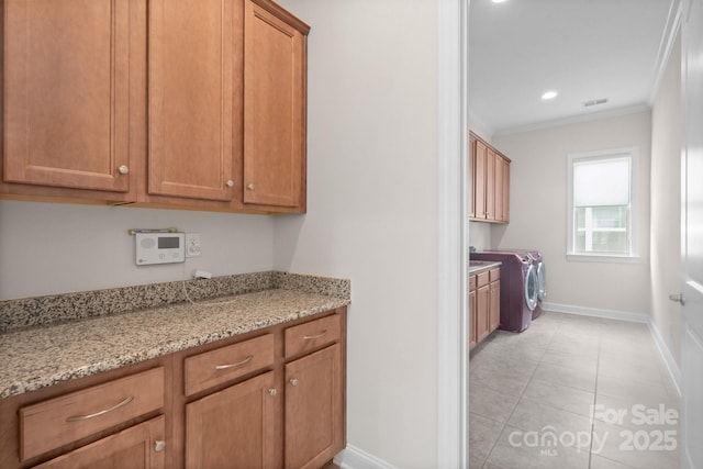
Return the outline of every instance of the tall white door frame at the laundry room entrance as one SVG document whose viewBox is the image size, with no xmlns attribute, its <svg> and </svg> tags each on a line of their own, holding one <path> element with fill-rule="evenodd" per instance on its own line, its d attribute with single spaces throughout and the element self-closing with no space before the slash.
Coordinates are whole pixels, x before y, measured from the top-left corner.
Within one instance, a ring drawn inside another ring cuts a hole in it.
<svg viewBox="0 0 703 469">
<path fill-rule="evenodd" d="M 437 468 L 469 466 L 469 1 L 437 3 Z"/>
</svg>

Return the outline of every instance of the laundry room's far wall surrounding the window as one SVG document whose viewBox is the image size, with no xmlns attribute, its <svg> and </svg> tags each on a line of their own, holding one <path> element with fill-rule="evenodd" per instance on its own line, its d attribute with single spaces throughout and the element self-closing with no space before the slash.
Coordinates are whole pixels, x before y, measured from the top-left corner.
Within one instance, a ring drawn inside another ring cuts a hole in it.
<svg viewBox="0 0 703 469">
<path fill-rule="evenodd" d="M 493 246 L 537 248 L 546 259 L 548 302 L 649 314 L 649 163 L 651 114 L 639 112 L 493 137 L 512 159 L 510 224 Z M 639 254 L 636 264 L 567 261 L 567 155 L 639 147 Z"/>
</svg>

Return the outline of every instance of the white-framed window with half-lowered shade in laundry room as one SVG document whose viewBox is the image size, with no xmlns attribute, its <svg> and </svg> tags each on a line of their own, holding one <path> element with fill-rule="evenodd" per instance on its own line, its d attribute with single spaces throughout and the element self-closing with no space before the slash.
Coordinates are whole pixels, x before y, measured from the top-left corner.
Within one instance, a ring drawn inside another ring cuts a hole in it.
<svg viewBox="0 0 703 469">
<path fill-rule="evenodd" d="M 568 255 L 637 257 L 637 148 L 569 155 Z"/>
</svg>

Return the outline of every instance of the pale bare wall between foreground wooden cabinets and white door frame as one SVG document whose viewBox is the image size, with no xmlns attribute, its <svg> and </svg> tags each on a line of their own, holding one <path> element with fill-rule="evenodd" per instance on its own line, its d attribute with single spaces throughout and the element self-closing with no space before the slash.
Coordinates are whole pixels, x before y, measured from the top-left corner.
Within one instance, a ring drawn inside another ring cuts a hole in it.
<svg viewBox="0 0 703 469">
<path fill-rule="evenodd" d="M 309 203 L 275 266 L 352 279 L 348 444 L 437 460 L 437 3 L 288 0 L 309 37 Z"/>
</svg>

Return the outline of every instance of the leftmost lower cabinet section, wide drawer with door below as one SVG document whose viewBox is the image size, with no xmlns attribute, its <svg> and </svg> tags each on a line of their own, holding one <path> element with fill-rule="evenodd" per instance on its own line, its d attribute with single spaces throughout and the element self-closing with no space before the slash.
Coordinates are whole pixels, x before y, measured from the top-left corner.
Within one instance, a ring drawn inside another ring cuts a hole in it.
<svg viewBox="0 0 703 469">
<path fill-rule="evenodd" d="M 0 467 L 168 467 L 169 373 L 156 359 L 0 400 Z"/>
</svg>

